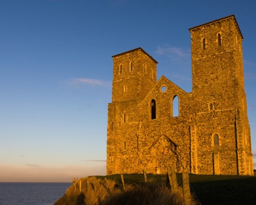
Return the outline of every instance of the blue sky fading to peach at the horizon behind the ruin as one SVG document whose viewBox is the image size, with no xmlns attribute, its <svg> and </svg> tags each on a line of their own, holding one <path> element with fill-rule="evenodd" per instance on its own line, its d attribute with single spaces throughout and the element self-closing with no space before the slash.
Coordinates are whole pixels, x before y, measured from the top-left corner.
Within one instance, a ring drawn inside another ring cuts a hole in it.
<svg viewBox="0 0 256 205">
<path fill-rule="evenodd" d="M 253 0 L 0 0 L 0 182 L 105 175 L 111 56 L 142 47 L 158 78 L 190 92 L 188 29 L 231 14 L 256 153 L 255 10 Z"/>
</svg>

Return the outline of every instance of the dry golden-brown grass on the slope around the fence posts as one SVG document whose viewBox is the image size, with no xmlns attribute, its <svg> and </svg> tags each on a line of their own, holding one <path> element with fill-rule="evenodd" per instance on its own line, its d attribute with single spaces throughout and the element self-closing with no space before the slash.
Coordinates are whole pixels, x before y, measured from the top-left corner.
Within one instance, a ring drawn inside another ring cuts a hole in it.
<svg viewBox="0 0 256 205">
<path fill-rule="evenodd" d="M 79 192 L 81 180 L 81 192 Z M 183 204 L 182 189 L 177 193 L 165 183 L 133 183 L 123 189 L 121 183 L 114 180 L 87 177 L 79 179 L 77 184 L 68 188 L 66 194 L 56 201 L 55 205 L 82 205 L 82 204 Z M 192 204 L 197 204 L 191 198 Z"/>
</svg>

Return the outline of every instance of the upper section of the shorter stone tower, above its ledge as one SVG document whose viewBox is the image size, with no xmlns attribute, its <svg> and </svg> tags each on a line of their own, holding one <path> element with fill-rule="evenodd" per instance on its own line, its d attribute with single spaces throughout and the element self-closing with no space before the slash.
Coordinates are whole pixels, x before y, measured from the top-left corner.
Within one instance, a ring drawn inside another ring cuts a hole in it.
<svg viewBox="0 0 256 205">
<path fill-rule="evenodd" d="M 112 102 L 142 100 L 157 82 L 157 62 L 140 47 L 112 58 Z"/>
</svg>

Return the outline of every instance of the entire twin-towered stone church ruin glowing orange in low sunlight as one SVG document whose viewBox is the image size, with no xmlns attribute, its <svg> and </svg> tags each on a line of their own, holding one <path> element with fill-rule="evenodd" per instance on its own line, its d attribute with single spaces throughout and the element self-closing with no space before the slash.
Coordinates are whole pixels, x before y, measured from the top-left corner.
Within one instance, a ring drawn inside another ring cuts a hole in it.
<svg viewBox="0 0 256 205">
<path fill-rule="evenodd" d="M 112 56 L 107 174 L 253 175 L 242 33 L 234 15 L 189 29 L 192 92 L 162 76 L 140 47 Z M 173 101 L 179 103 L 173 116 Z"/>
</svg>

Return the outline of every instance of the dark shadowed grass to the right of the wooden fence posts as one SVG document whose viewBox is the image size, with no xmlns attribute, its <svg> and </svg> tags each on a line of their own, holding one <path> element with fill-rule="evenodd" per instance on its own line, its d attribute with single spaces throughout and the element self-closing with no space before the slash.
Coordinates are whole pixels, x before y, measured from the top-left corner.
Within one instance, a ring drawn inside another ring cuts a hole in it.
<svg viewBox="0 0 256 205">
<path fill-rule="evenodd" d="M 191 189 L 201 204 L 255 204 L 256 177 L 191 175 Z"/>
</svg>

